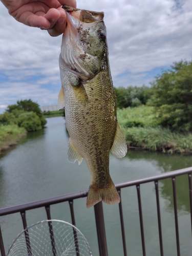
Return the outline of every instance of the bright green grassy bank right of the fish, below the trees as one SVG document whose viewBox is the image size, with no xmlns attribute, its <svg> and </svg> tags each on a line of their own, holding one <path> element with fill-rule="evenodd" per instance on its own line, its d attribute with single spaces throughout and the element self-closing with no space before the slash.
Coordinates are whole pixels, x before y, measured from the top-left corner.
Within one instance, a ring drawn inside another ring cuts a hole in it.
<svg viewBox="0 0 192 256">
<path fill-rule="evenodd" d="M 172 132 L 156 120 L 151 106 L 126 108 L 117 111 L 119 125 L 129 147 L 164 153 L 192 153 L 192 134 Z"/>
</svg>

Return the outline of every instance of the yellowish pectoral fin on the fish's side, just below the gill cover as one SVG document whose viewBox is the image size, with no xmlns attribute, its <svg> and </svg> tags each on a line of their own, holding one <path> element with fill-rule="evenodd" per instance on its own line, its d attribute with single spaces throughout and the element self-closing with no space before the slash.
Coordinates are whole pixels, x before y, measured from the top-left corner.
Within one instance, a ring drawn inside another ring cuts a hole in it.
<svg viewBox="0 0 192 256">
<path fill-rule="evenodd" d="M 88 95 L 86 89 L 84 89 L 82 82 L 78 80 L 75 84 L 72 84 L 72 88 L 77 102 L 84 106 L 87 105 L 87 103 L 89 102 Z"/>
</svg>

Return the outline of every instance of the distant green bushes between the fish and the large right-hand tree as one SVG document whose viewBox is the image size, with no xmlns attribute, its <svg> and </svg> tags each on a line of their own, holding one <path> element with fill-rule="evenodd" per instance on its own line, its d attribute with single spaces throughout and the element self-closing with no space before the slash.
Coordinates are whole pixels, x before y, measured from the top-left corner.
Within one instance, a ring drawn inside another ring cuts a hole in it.
<svg viewBox="0 0 192 256">
<path fill-rule="evenodd" d="M 115 88 L 115 94 L 117 99 L 117 108 L 127 108 L 128 106 L 139 106 L 142 104 L 146 104 L 150 95 L 148 92 L 148 87 L 119 87 Z"/>
</svg>

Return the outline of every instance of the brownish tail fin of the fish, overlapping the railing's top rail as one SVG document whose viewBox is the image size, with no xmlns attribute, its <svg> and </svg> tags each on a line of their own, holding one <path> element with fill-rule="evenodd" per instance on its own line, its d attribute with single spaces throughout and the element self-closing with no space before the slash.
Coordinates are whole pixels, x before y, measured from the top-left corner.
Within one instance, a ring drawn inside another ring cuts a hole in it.
<svg viewBox="0 0 192 256">
<path fill-rule="evenodd" d="M 120 202 L 120 197 L 117 189 L 110 177 L 108 185 L 104 188 L 99 188 L 96 184 L 92 183 L 89 187 L 86 206 L 91 206 L 103 201 L 106 204 L 117 204 Z"/>
</svg>

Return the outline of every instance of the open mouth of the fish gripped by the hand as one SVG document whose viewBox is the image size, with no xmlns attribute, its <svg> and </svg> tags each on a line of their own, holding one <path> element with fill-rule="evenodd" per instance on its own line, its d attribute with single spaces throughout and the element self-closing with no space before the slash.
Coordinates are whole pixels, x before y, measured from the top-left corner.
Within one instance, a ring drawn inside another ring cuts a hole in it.
<svg viewBox="0 0 192 256">
<path fill-rule="evenodd" d="M 82 23 L 93 23 L 100 22 L 103 20 L 104 12 L 94 12 L 88 10 L 81 10 L 77 8 L 72 8 L 67 5 L 63 5 L 62 8 L 72 17 L 78 18 Z"/>
</svg>

